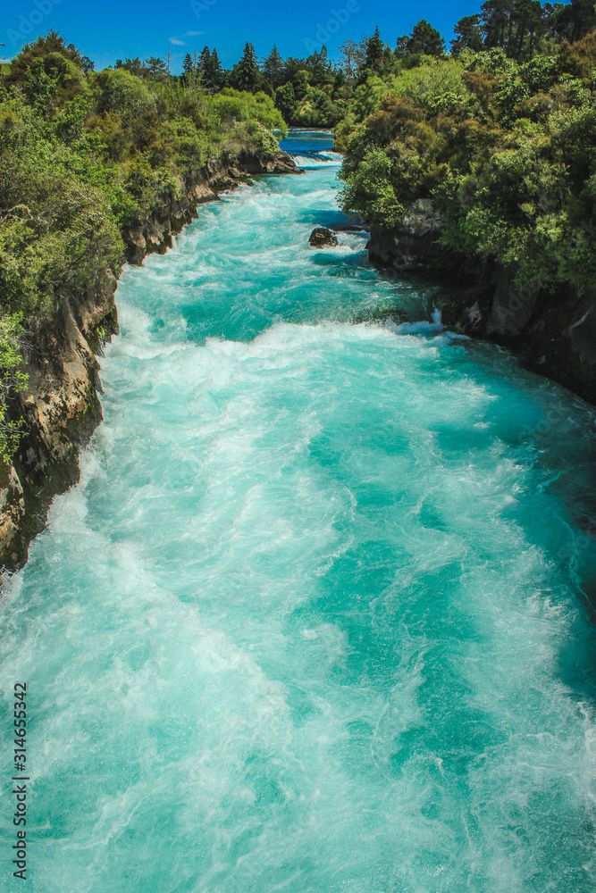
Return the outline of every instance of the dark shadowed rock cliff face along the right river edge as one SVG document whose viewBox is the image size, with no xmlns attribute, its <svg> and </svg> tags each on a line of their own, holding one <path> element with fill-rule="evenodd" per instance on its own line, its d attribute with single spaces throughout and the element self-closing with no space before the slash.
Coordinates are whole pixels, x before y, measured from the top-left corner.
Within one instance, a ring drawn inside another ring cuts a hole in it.
<svg viewBox="0 0 596 893">
<path fill-rule="evenodd" d="M 520 286 L 515 268 L 458 255 L 440 237 L 439 214 L 418 203 L 398 227 L 372 230 L 368 253 L 378 267 L 436 281 L 449 328 L 510 347 L 527 368 L 596 404 L 596 288 Z"/>
</svg>

